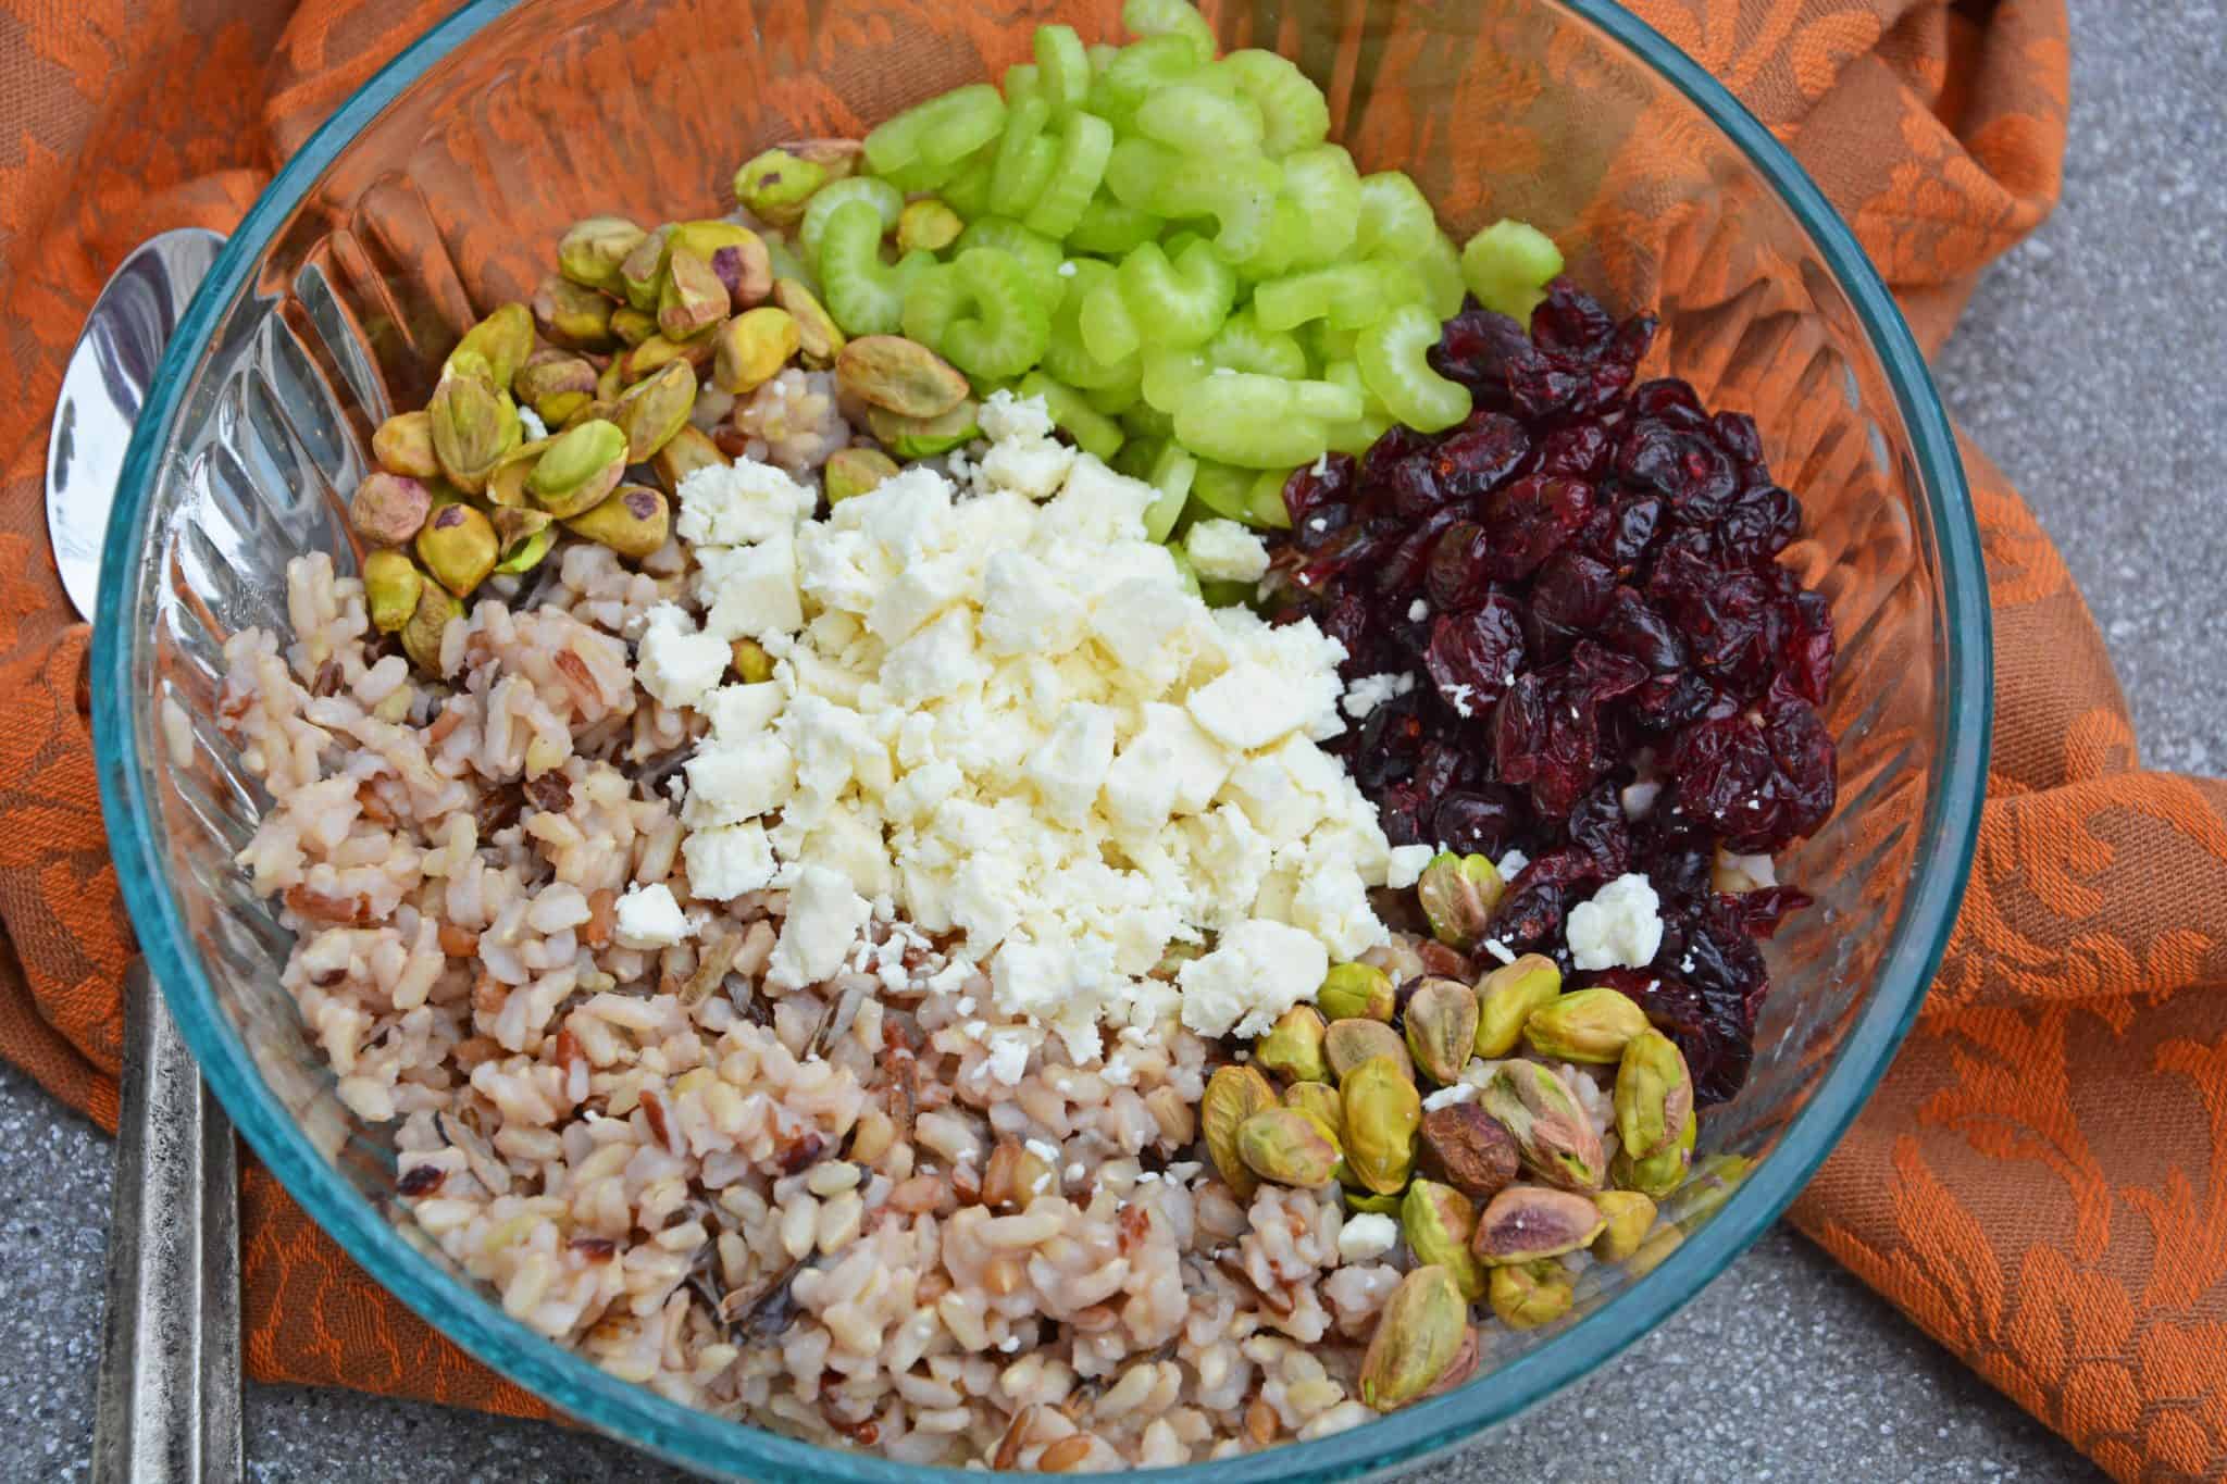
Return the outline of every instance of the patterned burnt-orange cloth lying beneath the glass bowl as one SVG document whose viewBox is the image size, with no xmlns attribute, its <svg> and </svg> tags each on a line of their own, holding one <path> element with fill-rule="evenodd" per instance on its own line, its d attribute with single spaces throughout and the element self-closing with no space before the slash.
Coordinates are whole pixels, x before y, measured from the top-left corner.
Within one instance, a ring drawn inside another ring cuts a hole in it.
<svg viewBox="0 0 2227 1484">
<path fill-rule="evenodd" d="M 448 4 L 0 0 L 0 1052 L 116 1121 L 129 952 L 45 550 L 62 358 L 160 227 L 229 227 Z M 1817 176 L 1937 347 L 2051 207 L 2060 0 L 1639 0 Z M 2087 605 L 1966 447 L 1998 645 L 1971 894 L 1795 1221 L 2122 1480 L 2227 1473 L 2227 785 L 2140 772 Z M 245 1175 L 247 1362 L 546 1415 Z"/>
</svg>

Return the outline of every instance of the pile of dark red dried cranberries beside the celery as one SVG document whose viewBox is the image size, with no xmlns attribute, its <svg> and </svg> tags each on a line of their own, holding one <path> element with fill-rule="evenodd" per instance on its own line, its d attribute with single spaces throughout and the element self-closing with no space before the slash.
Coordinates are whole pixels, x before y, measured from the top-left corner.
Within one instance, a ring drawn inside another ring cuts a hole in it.
<svg viewBox="0 0 2227 1484">
<path fill-rule="evenodd" d="M 1632 385 L 1652 338 L 1568 280 L 1530 334 L 1472 303 L 1430 354 L 1472 416 L 1294 474 L 1276 570 L 1347 681 L 1416 676 L 1332 743 L 1392 843 L 1530 852 L 1494 917 L 1505 948 L 1568 970 L 1568 908 L 1646 872 L 1661 952 L 1586 981 L 1637 999 L 1708 1104 L 1748 1075 L 1770 988 L 1755 939 L 1808 906 L 1719 892 L 1713 865 L 1833 812 L 1833 616 L 1777 563 L 1802 505 L 1755 421 L 1681 380 Z"/>
</svg>

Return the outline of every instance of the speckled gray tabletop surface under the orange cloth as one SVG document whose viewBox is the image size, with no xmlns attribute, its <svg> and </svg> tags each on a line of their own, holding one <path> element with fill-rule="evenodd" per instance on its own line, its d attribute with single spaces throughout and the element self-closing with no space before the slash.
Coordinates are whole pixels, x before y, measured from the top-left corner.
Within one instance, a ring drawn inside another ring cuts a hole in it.
<svg viewBox="0 0 2227 1484">
<path fill-rule="evenodd" d="M 2227 303 L 2218 4 L 2076 0 L 2064 207 L 1986 280 L 1942 389 L 2033 501 L 2111 641 L 2154 765 L 2227 756 L 2216 416 Z M 85 1475 L 109 1146 L 0 1068 L 0 1480 Z M 258 1386 L 267 1484 L 666 1480 L 557 1428 Z M 1423 1471 L 1488 1480 L 2100 1477 L 1791 1230 L 1619 1364 Z"/>
</svg>

